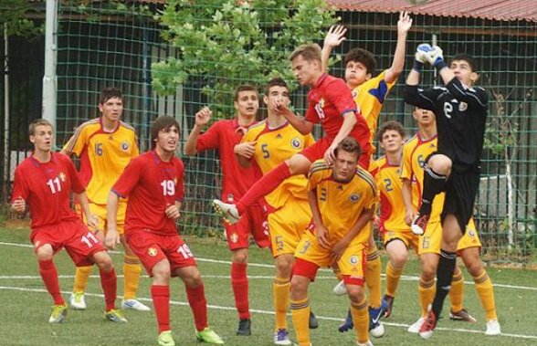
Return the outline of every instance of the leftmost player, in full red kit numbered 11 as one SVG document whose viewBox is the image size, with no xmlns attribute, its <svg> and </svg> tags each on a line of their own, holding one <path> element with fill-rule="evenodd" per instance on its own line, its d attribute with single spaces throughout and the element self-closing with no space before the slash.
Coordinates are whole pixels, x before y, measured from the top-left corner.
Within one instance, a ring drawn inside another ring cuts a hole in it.
<svg viewBox="0 0 537 346">
<path fill-rule="evenodd" d="M 29 135 L 34 152 L 16 167 L 11 208 L 16 213 L 24 213 L 27 205 L 30 210 L 30 240 L 36 251 L 41 278 L 54 299 L 48 322 L 62 322 L 67 314 L 53 261 L 62 247 L 77 267 L 97 264 L 106 302 L 104 317 L 114 322 L 126 322 L 121 312 L 115 309 L 116 272 L 111 257 L 70 208 L 69 194 L 72 191 L 88 224 L 97 225 L 97 218 L 89 212 L 88 197 L 75 166 L 68 156 L 51 151 L 54 135 L 50 122 L 32 121 Z"/>
</svg>

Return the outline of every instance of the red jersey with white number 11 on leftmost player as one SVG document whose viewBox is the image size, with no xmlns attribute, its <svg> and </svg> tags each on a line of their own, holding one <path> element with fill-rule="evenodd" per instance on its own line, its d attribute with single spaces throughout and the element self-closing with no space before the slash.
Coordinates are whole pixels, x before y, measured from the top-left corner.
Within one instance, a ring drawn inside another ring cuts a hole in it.
<svg viewBox="0 0 537 346">
<path fill-rule="evenodd" d="M 22 197 L 30 208 L 32 230 L 56 225 L 79 216 L 70 207 L 71 191 L 81 194 L 84 185 L 68 156 L 51 152 L 50 161 L 39 163 L 28 157 L 15 170 L 12 201 Z"/>
</svg>

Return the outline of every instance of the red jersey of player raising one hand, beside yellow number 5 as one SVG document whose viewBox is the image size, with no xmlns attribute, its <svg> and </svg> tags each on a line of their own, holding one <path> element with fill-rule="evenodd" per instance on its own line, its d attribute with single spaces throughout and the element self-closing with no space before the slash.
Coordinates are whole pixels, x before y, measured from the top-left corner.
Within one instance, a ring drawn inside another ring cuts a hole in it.
<svg viewBox="0 0 537 346">
<path fill-rule="evenodd" d="M 233 151 L 246 131 L 238 125 L 237 119 L 216 121 L 199 136 L 195 145 L 197 152 L 218 149 L 223 175 L 221 199 L 224 202 L 238 201 L 261 177 L 261 172 L 255 165 L 242 168 Z"/>
</svg>

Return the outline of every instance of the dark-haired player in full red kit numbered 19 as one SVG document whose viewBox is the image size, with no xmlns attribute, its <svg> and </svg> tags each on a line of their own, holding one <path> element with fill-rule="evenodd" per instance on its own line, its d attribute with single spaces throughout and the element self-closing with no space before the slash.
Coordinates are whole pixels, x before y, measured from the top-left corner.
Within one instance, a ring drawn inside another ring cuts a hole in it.
<svg viewBox="0 0 537 346">
<path fill-rule="evenodd" d="M 129 197 L 125 238 L 153 278 L 151 295 L 159 328 L 158 344 L 175 345 L 170 327 L 170 277 L 179 277 L 184 282 L 197 339 L 223 344 L 207 324 L 205 288 L 194 255 L 177 234 L 176 221 L 184 198 L 184 163 L 174 156 L 179 144 L 179 124 L 172 117 L 157 118 L 151 128 L 151 139 L 153 150 L 132 160 L 111 189 L 105 244 L 114 248 L 120 243 L 118 204 L 120 197 Z"/>
</svg>

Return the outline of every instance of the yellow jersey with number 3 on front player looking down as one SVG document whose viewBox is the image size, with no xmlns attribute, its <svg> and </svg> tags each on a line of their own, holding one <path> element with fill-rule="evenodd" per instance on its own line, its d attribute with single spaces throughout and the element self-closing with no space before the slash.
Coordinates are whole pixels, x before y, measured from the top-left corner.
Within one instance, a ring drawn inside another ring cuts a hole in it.
<svg viewBox="0 0 537 346">
<path fill-rule="evenodd" d="M 377 187 L 373 176 L 358 166 L 353 180 L 339 183 L 332 178 L 332 167 L 323 160 L 311 165 L 308 191 L 316 189 L 317 204 L 322 224 L 328 229 L 333 245 L 356 224 L 364 209 L 374 208 L 378 203 Z M 370 227 L 363 227 L 356 242 L 367 243 Z"/>
</svg>

